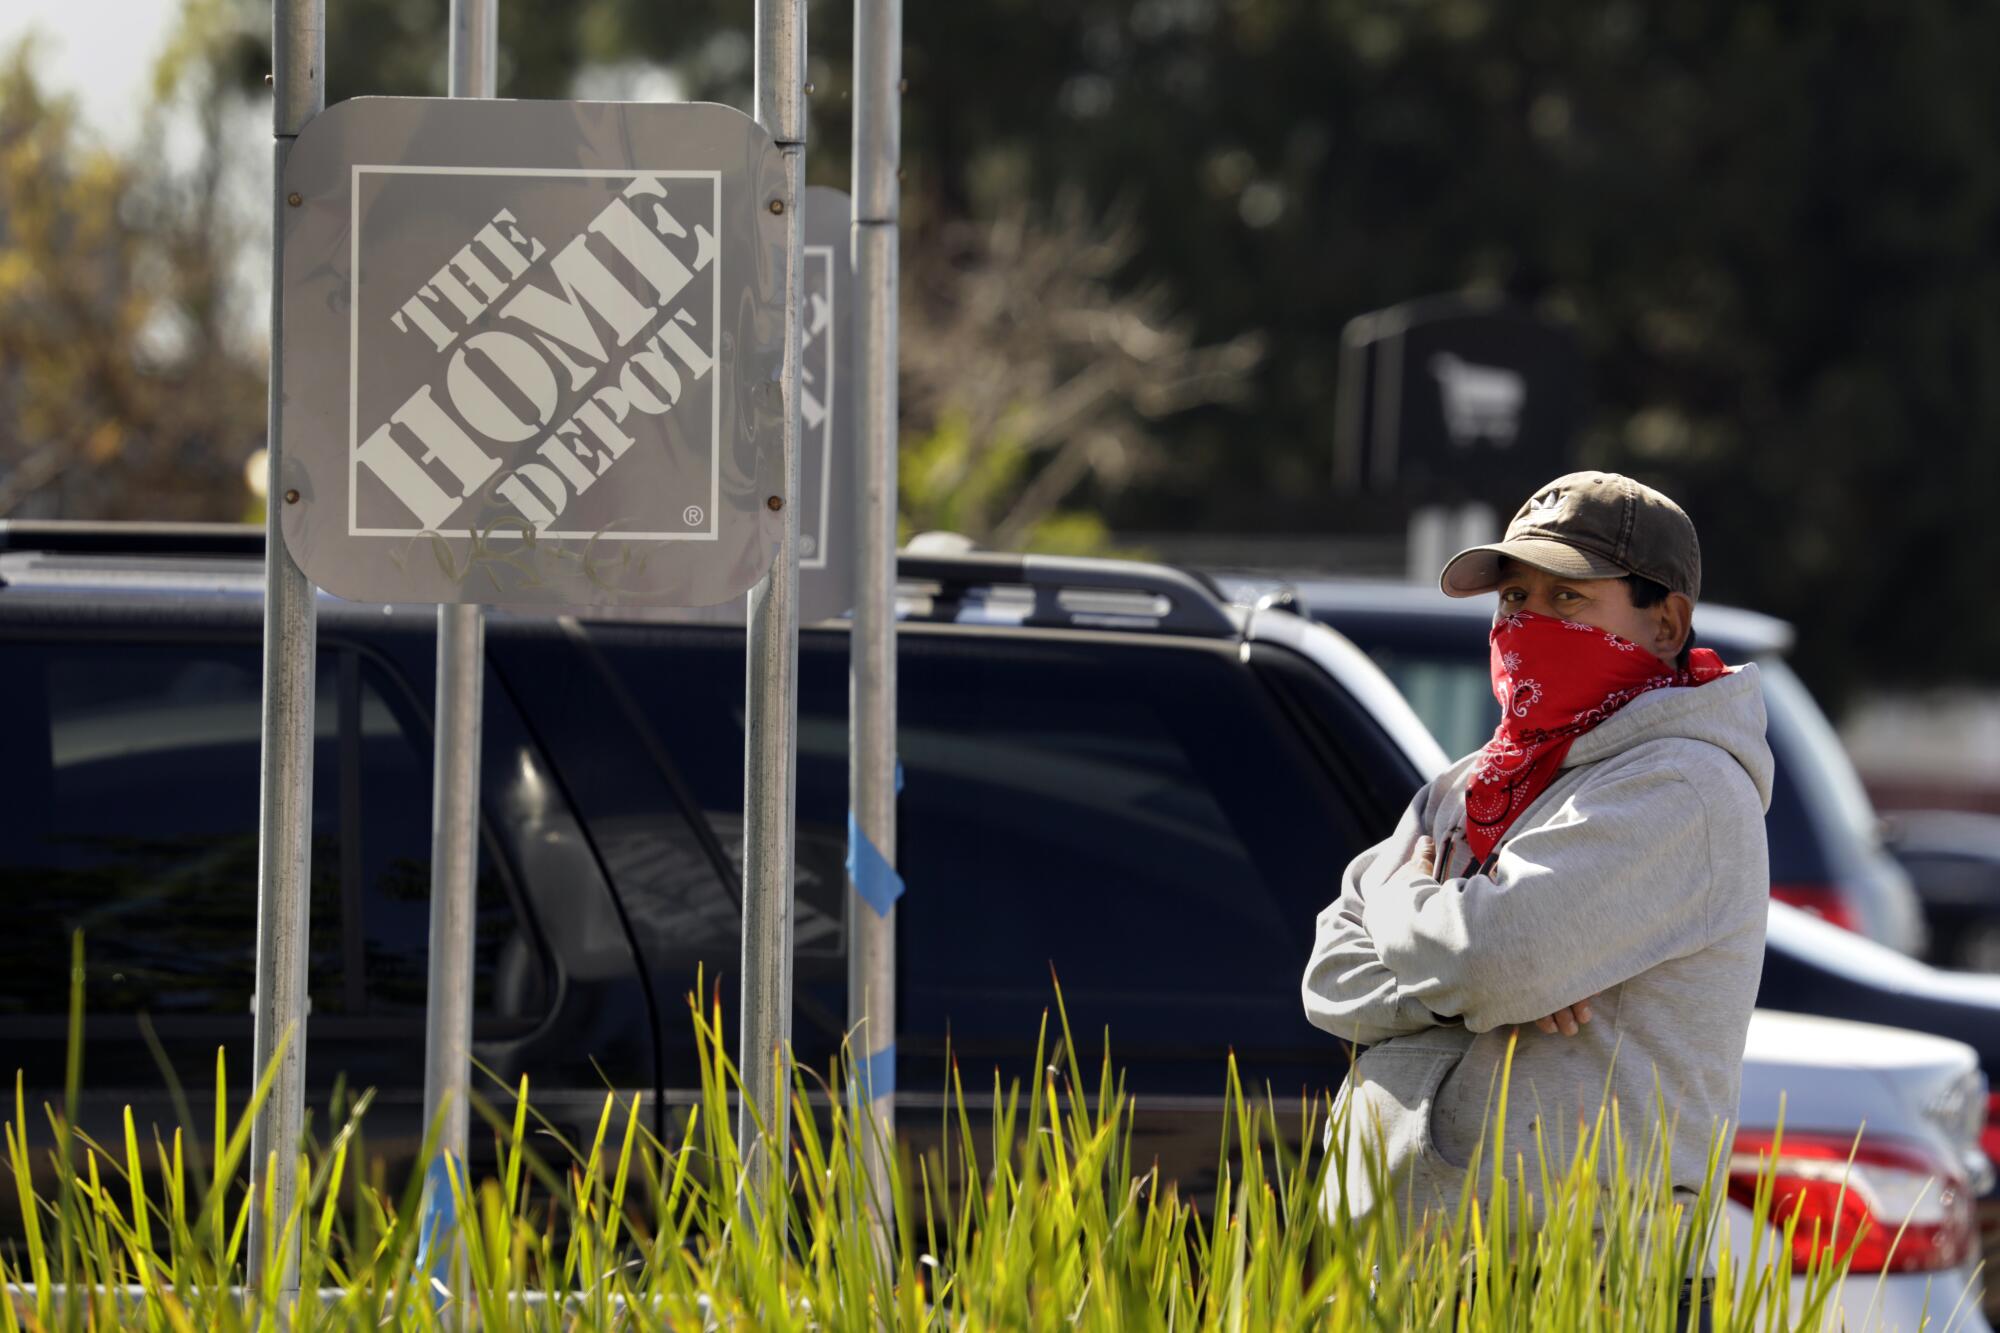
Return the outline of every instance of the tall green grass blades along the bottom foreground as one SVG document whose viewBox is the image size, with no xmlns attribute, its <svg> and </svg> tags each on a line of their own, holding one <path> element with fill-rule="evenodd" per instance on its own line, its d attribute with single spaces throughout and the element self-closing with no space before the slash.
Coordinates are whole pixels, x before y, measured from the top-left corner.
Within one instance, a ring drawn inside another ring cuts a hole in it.
<svg viewBox="0 0 2000 1333">
<path fill-rule="evenodd" d="M 30 1149 L 16 1079 L 6 1151 L 24 1241 L 0 1275 L 32 1295 L 0 1301 L 0 1329 L 1666 1329 L 1684 1247 L 1706 1239 L 1662 1185 L 1664 1153 L 1634 1151 L 1616 1107 L 1568 1169 L 1474 1161 L 1490 1197 L 1408 1235 L 1394 1209 L 1328 1221 L 1318 1145 L 1330 1105 L 1280 1111 L 1242 1087 L 1234 1061 L 1218 1185 L 1212 1207 L 1196 1207 L 1134 1161 L 1134 1101 L 1108 1057 L 1086 1081 L 1060 997 L 1038 1049 L 1044 1077 L 996 1081 L 976 1125 L 954 1071 L 952 1133 L 922 1159 L 890 1155 L 886 1199 L 870 1197 L 860 1147 L 872 1121 L 852 1115 L 844 1081 L 794 1069 L 788 1173 L 746 1195 L 720 1013 L 690 1001 L 690 1019 L 702 1099 L 668 1143 L 616 1095 L 588 1143 L 540 1121 L 526 1081 L 500 1099 L 506 1111 L 480 1101 L 498 1167 L 452 1173 L 466 1275 L 452 1299 L 416 1275 L 420 1173 L 394 1195 L 380 1173 L 356 1179 L 366 1097 L 286 1165 L 298 1205 L 270 1217 L 234 1185 L 270 1075 L 232 1117 L 218 1055 L 210 1133 L 150 1131 L 128 1113 L 120 1143 L 96 1143 L 72 1127 L 72 1037 L 66 1105 L 40 1109 L 52 1147 Z M 1296 1137 L 1280 1133 L 1286 1121 Z M 46 1197 L 32 1187 L 36 1151 L 52 1163 Z M 1544 1201 L 1538 1229 L 1530 1195 Z M 278 1299 L 276 1263 L 260 1291 L 242 1291 L 258 1207 L 260 1235 L 300 1247 L 296 1307 Z M 1790 1245 L 1768 1215 L 1766 1187 L 1752 1263 L 1722 1251 L 1718 1329 L 1814 1327 L 1842 1275 L 1832 1255 L 1816 1261 L 1794 1301 Z"/>
</svg>

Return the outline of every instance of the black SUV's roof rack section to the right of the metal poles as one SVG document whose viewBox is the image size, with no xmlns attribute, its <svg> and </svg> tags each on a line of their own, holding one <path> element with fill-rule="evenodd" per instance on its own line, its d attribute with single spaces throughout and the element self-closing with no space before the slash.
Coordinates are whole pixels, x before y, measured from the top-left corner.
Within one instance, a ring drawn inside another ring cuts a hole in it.
<svg viewBox="0 0 2000 1333">
<path fill-rule="evenodd" d="M 902 620 L 1240 636 L 1236 620 L 1214 592 L 1192 574 L 1164 564 L 902 552 L 896 576 L 896 614 Z"/>
</svg>

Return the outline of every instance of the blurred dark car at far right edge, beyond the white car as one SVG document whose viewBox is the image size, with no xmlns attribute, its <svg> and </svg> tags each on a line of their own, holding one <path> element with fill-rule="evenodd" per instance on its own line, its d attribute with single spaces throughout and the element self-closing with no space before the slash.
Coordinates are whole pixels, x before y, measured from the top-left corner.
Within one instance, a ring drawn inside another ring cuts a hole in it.
<svg viewBox="0 0 2000 1333">
<path fill-rule="evenodd" d="M 1930 921 L 1930 961 L 2000 973 L 2000 815 L 1896 811 L 1886 825 Z"/>
</svg>

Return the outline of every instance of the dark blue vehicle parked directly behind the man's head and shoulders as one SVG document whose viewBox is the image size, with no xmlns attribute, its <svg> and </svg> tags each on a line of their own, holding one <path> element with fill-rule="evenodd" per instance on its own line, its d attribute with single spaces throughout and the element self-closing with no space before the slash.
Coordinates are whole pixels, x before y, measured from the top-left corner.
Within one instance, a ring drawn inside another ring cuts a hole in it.
<svg viewBox="0 0 2000 1333">
<path fill-rule="evenodd" d="M 1492 737 L 1500 707 L 1488 677 L 1490 598 L 1364 578 L 1308 578 L 1290 586 L 1314 618 L 1360 644 L 1396 681 L 1448 753 L 1470 755 Z M 1694 610 L 1694 632 L 1722 660 L 1754 660 L 1764 677 L 1770 749 L 1778 761 L 1766 819 L 1772 897 L 1920 955 L 1924 915 L 1910 877 L 1884 849 L 1882 821 L 1832 725 L 1784 662 L 1792 628 L 1750 610 L 1702 604 Z"/>
</svg>

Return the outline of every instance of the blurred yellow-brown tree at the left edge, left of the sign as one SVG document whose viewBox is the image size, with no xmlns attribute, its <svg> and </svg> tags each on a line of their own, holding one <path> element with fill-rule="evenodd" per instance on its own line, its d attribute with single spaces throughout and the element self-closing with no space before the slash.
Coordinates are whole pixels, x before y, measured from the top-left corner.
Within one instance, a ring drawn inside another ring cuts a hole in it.
<svg viewBox="0 0 2000 1333">
<path fill-rule="evenodd" d="M 38 88 L 30 46 L 0 62 L 0 516 L 244 510 L 264 366 L 228 298 L 228 90 L 158 94 L 194 102 L 184 172 L 162 166 L 158 122 L 110 152 Z"/>
</svg>

